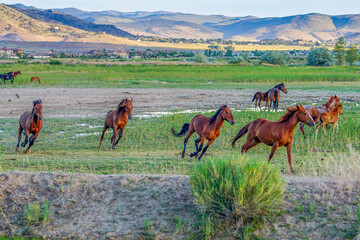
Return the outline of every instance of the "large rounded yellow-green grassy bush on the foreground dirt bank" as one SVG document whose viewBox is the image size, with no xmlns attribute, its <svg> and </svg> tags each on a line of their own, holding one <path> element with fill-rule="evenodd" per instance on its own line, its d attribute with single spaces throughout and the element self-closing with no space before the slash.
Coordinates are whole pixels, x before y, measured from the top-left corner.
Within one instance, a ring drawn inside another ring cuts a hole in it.
<svg viewBox="0 0 360 240">
<path fill-rule="evenodd" d="M 244 227 L 277 213 L 285 191 L 278 170 L 246 158 L 208 159 L 194 169 L 190 184 L 204 216 Z"/>
</svg>

